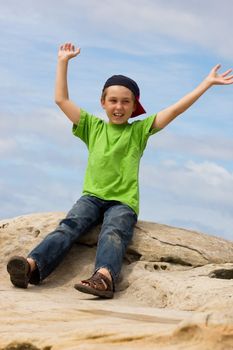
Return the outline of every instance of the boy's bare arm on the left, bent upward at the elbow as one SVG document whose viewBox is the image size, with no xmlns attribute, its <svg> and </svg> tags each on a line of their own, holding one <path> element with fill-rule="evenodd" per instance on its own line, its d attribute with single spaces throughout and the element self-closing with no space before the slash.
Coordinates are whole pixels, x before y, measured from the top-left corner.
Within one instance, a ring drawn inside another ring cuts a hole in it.
<svg viewBox="0 0 233 350">
<path fill-rule="evenodd" d="M 69 99 L 67 70 L 68 61 L 79 53 L 80 49 L 75 49 L 75 46 L 71 43 L 60 46 L 55 84 L 55 102 L 74 124 L 79 122 L 80 108 Z"/>
</svg>

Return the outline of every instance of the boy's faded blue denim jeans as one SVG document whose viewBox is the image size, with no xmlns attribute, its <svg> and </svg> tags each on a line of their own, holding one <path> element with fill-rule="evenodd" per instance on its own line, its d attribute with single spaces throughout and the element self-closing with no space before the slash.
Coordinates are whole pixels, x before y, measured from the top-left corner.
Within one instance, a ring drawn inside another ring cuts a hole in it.
<svg viewBox="0 0 233 350">
<path fill-rule="evenodd" d="M 91 227 L 102 222 L 98 238 L 95 271 L 109 270 L 113 283 L 120 274 L 126 248 L 133 236 L 137 215 L 129 206 L 118 201 L 106 201 L 94 196 L 82 196 L 59 226 L 31 251 L 37 270 L 30 283 L 38 284 L 63 260 L 74 243 Z"/>
</svg>

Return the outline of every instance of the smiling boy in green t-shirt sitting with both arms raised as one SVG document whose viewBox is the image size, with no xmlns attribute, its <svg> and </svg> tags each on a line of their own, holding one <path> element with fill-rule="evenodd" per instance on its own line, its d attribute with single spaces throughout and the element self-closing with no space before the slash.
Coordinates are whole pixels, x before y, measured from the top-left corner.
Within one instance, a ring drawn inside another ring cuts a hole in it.
<svg viewBox="0 0 233 350">
<path fill-rule="evenodd" d="M 7 265 L 12 283 L 27 288 L 38 284 L 61 262 L 71 246 L 93 225 L 102 222 L 94 274 L 75 288 L 103 298 L 112 298 L 126 248 L 132 238 L 139 209 L 138 168 L 150 135 L 163 129 L 187 110 L 213 85 L 233 83 L 232 71 L 217 74 L 220 65 L 191 93 L 177 103 L 144 120 L 128 123 L 145 113 L 135 81 L 115 75 L 103 88 L 101 105 L 109 123 L 76 106 L 68 95 L 68 61 L 79 55 L 71 43 L 58 52 L 55 101 L 73 123 L 73 133 L 89 149 L 82 197 L 27 258 L 12 257 Z"/>
</svg>

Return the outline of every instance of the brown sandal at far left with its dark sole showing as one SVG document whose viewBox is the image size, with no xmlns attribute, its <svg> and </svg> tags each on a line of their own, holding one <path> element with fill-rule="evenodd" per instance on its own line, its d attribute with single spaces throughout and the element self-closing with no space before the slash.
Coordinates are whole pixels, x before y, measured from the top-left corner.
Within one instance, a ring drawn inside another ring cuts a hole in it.
<svg viewBox="0 0 233 350">
<path fill-rule="evenodd" d="M 15 287 L 27 288 L 31 276 L 31 268 L 27 259 L 22 256 L 13 256 L 8 261 L 7 271 Z"/>
</svg>

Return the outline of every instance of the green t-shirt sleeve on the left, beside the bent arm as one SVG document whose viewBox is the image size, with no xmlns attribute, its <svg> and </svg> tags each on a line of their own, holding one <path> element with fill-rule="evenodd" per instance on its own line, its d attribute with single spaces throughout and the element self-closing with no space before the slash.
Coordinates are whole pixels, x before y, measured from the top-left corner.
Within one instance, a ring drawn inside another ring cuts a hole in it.
<svg viewBox="0 0 233 350">
<path fill-rule="evenodd" d="M 78 124 L 73 124 L 72 132 L 74 136 L 79 137 L 89 147 L 90 135 L 91 133 L 95 134 L 95 128 L 101 122 L 101 119 L 81 109 L 80 120 Z"/>
</svg>

